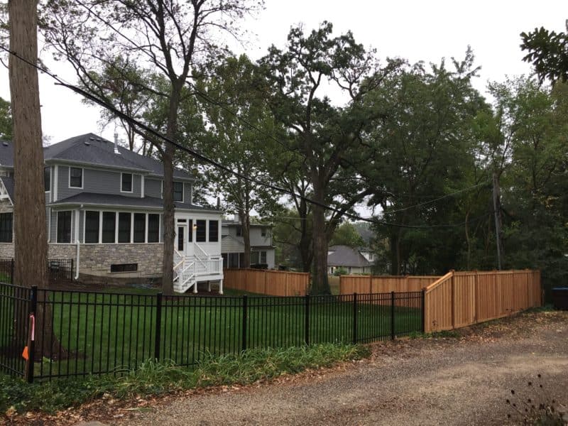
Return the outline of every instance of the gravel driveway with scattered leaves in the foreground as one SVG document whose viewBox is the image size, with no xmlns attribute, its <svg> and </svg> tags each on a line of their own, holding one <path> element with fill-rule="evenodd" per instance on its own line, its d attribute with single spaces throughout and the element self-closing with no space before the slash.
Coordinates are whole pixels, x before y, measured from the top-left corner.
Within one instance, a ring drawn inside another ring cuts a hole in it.
<svg viewBox="0 0 568 426">
<path fill-rule="evenodd" d="M 567 404 L 568 312 L 373 346 L 371 359 L 245 388 L 179 397 L 121 425 L 502 425 L 510 390 Z M 528 388 L 542 374 L 545 394 Z M 124 417 L 123 417 L 124 416 Z M 520 420 L 520 417 L 516 417 Z M 104 421 L 104 420 L 102 420 Z M 117 423 L 118 422 L 118 423 Z"/>
</svg>

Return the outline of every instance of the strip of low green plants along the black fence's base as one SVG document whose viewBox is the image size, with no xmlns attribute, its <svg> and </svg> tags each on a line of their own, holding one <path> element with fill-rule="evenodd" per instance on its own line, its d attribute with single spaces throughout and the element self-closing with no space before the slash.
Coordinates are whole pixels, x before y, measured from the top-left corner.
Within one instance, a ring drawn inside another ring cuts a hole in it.
<svg viewBox="0 0 568 426">
<path fill-rule="evenodd" d="M 125 376 L 88 376 L 28 384 L 0 374 L 0 413 L 13 407 L 18 413 L 53 413 L 105 395 L 131 398 L 159 395 L 204 386 L 247 384 L 271 380 L 307 368 L 320 368 L 368 356 L 365 346 L 320 344 L 289 349 L 252 349 L 238 355 L 207 356 L 195 369 L 164 361 L 146 361 Z"/>
</svg>

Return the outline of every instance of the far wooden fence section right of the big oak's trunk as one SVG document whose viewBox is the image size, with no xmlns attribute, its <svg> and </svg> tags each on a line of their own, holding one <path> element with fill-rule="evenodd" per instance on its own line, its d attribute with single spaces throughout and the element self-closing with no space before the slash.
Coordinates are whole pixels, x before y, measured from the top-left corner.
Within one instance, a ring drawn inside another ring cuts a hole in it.
<svg viewBox="0 0 568 426">
<path fill-rule="evenodd" d="M 439 276 L 342 275 L 339 280 L 339 294 L 420 291 L 438 278 Z"/>
</svg>

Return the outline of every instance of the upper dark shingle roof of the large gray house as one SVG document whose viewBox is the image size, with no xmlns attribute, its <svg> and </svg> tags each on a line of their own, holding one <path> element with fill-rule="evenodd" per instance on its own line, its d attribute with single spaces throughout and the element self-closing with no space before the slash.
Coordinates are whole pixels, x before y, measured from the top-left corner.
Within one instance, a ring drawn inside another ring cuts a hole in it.
<svg viewBox="0 0 568 426">
<path fill-rule="evenodd" d="M 85 133 L 65 139 L 43 148 L 45 160 L 64 160 L 82 164 L 139 170 L 149 175 L 163 176 L 163 165 L 155 158 L 146 157 L 119 146 L 114 153 L 114 143 L 94 133 Z M 0 143 L 0 165 L 13 167 L 13 146 L 9 141 Z M 189 173 L 174 170 L 174 178 L 194 180 Z"/>
</svg>

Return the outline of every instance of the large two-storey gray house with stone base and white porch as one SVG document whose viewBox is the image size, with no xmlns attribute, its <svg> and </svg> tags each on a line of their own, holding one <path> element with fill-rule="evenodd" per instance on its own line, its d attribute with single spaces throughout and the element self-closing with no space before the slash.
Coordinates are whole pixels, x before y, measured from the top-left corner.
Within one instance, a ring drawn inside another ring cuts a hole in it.
<svg viewBox="0 0 568 426">
<path fill-rule="evenodd" d="M 48 257 L 75 259 L 75 279 L 162 276 L 163 165 L 93 133 L 43 148 Z M 174 171 L 174 287 L 219 281 L 218 209 L 192 204 L 194 178 Z M 17 182 L 16 182 L 17 190 Z M 13 146 L 0 144 L 0 257 L 13 257 Z"/>
</svg>

